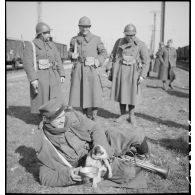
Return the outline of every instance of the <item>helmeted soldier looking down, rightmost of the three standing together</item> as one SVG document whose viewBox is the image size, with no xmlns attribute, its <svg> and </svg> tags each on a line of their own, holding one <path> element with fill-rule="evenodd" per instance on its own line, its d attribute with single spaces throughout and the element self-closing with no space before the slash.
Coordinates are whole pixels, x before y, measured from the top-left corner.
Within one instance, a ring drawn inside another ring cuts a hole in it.
<svg viewBox="0 0 195 195">
<path fill-rule="evenodd" d="M 126 105 L 129 107 L 129 121 L 135 124 L 134 110 L 141 95 L 140 83 L 145 79 L 149 68 L 149 52 L 146 45 L 136 36 L 136 27 L 128 24 L 124 38 L 116 41 L 110 57 L 112 67 L 111 99 L 120 103 L 121 116 L 116 122 L 126 119 Z"/>
</svg>

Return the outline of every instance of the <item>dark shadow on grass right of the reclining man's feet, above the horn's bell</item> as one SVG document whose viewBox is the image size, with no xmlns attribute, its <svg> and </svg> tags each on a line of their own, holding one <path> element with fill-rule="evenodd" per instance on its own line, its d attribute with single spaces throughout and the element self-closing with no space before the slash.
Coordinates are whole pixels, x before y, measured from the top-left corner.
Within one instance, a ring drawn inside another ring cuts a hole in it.
<svg viewBox="0 0 195 195">
<path fill-rule="evenodd" d="M 189 154 L 189 143 L 184 140 L 183 137 L 176 139 L 163 138 L 159 140 L 151 139 L 147 137 L 147 140 L 154 144 L 160 144 L 162 147 L 165 147 L 169 150 L 176 150 L 184 155 Z"/>
</svg>

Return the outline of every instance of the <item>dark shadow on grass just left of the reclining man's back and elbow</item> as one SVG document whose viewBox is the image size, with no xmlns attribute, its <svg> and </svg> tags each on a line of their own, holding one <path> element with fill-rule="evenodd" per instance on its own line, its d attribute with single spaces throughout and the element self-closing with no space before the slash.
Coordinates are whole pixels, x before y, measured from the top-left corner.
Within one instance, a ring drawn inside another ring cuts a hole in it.
<svg viewBox="0 0 195 195">
<path fill-rule="evenodd" d="M 21 156 L 19 164 L 39 182 L 39 160 L 35 149 L 22 145 L 15 150 L 15 153 L 19 153 Z"/>
</svg>

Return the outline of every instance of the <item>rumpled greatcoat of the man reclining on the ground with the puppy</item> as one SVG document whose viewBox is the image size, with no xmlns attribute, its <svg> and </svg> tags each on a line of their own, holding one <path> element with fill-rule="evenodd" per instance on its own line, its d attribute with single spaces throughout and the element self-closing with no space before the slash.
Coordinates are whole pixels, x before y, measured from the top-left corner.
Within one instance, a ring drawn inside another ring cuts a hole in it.
<svg viewBox="0 0 195 195">
<path fill-rule="evenodd" d="M 141 145 L 144 134 L 141 129 L 111 128 L 107 131 L 77 111 L 66 112 L 64 128 L 52 128 L 45 124 L 45 136 L 58 152 L 73 166 L 84 166 L 85 155 L 96 144 L 102 145 L 109 156 L 122 155 L 130 146 Z M 43 138 L 43 137 L 42 137 Z M 91 146 L 90 146 L 91 145 Z M 46 186 L 68 186 L 76 182 L 71 179 L 70 168 L 63 163 L 53 147 L 43 138 L 38 152 L 41 161 L 39 178 Z M 123 183 L 132 178 L 128 163 L 115 159 L 112 162 L 112 181 Z"/>
</svg>

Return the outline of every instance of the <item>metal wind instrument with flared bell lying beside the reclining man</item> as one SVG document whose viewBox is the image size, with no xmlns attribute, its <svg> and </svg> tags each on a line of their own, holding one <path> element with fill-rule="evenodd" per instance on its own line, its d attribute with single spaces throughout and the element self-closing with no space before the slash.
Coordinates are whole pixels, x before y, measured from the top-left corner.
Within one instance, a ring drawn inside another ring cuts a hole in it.
<svg viewBox="0 0 195 195">
<path fill-rule="evenodd" d="M 137 157 L 131 157 L 131 156 L 128 156 L 128 155 L 123 155 L 121 157 L 113 156 L 113 158 L 117 158 L 117 159 L 123 160 L 123 161 L 128 161 L 129 163 L 131 163 L 131 164 L 133 164 L 137 167 L 141 167 L 145 170 L 157 173 L 159 176 L 161 176 L 164 179 L 166 179 L 168 177 L 168 174 L 169 174 L 169 167 L 168 168 L 161 168 L 161 167 L 159 167 L 157 165 L 154 165 L 150 162 L 140 160 Z"/>
</svg>

